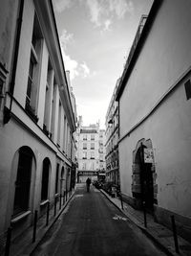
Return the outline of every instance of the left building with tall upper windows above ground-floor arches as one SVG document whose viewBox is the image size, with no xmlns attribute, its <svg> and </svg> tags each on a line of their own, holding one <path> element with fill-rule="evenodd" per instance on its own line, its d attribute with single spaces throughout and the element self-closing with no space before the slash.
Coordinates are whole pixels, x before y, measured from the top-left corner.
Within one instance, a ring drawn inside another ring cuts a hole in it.
<svg viewBox="0 0 191 256">
<path fill-rule="evenodd" d="M 0 35 L 0 237 L 14 239 L 72 189 L 76 116 L 52 2 L 3 1 Z"/>
</svg>

